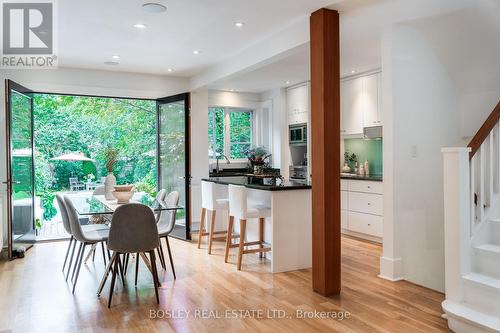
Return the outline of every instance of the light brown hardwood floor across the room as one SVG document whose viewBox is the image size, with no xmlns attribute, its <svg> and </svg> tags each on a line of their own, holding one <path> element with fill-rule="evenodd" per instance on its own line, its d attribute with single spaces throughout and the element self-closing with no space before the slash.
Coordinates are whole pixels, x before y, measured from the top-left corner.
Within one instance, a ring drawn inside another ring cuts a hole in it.
<svg viewBox="0 0 500 333">
<path fill-rule="evenodd" d="M 100 298 L 95 294 L 104 270 L 100 256 L 82 267 L 72 295 L 61 273 L 67 243 L 38 244 L 24 259 L 0 262 L 0 332 L 447 331 L 440 317 L 442 294 L 378 278 L 380 246 L 350 238 L 342 242 L 343 288 L 337 297 L 314 293 L 310 270 L 272 275 L 266 272 L 268 261 L 247 255 L 243 271 L 238 272 L 234 255 L 231 264 L 223 263 L 220 242 L 208 256 L 206 248 L 198 250 L 194 243 L 173 240 L 177 280 L 170 271 L 161 273 L 161 305 L 154 301 L 145 266 L 134 287 L 131 264 L 127 286 L 124 289 L 118 283 L 111 309 L 107 308 L 108 285 Z M 330 316 L 348 312 L 349 317 L 298 319 L 297 310 Z M 151 318 L 151 314 L 177 318 Z M 285 318 L 270 318 L 283 314 Z"/>
</svg>

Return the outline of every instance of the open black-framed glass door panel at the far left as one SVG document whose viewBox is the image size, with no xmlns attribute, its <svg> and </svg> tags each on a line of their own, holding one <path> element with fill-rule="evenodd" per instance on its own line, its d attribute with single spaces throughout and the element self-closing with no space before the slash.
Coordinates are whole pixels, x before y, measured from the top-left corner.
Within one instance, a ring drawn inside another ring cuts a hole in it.
<svg viewBox="0 0 500 333">
<path fill-rule="evenodd" d="M 6 80 L 7 219 L 9 257 L 35 242 L 33 91 Z"/>
</svg>

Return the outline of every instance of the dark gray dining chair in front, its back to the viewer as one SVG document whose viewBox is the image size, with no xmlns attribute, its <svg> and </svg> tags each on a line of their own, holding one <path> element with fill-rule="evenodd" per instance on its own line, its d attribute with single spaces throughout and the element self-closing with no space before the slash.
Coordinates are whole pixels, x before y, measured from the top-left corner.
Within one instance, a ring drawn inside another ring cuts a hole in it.
<svg viewBox="0 0 500 333">
<path fill-rule="evenodd" d="M 101 293 L 106 283 L 109 272 L 112 271 L 111 285 L 109 288 L 108 308 L 111 307 L 113 290 L 118 271 L 120 270 L 120 255 L 130 253 L 149 253 L 151 273 L 155 288 L 156 302 L 160 303 L 158 287 L 160 285 L 156 270 L 154 250 L 160 246 L 156 219 L 151 208 L 145 205 L 130 203 L 118 207 L 113 213 L 111 228 L 109 230 L 108 249 L 113 251 L 113 256 L 106 268 L 103 280 L 98 290 Z M 114 266 L 114 267 L 113 267 Z M 123 273 L 123 271 L 122 271 Z M 122 276 L 123 279 L 123 276 Z"/>
</svg>

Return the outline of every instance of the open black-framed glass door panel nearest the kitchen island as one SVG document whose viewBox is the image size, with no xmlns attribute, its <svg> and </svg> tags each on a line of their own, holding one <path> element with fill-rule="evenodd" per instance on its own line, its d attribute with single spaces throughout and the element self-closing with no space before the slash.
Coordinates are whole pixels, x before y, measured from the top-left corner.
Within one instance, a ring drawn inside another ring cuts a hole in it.
<svg viewBox="0 0 500 333">
<path fill-rule="evenodd" d="M 171 236 L 190 240 L 190 94 L 157 100 L 158 189 L 178 191 L 177 219 Z"/>
</svg>

